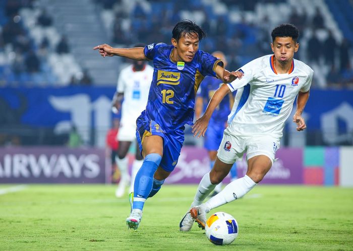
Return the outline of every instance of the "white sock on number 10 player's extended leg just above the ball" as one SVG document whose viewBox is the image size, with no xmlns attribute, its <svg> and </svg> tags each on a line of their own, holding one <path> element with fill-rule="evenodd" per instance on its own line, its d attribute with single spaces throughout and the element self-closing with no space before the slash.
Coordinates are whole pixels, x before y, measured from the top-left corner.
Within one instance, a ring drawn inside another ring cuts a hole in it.
<svg viewBox="0 0 353 251">
<path fill-rule="evenodd" d="M 207 210 L 212 210 L 226 203 L 242 198 L 252 190 L 256 184 L 257 183 L 255 183 L 248 175 L 230 182 L 220 193 L 213 196 L 205 203 Z"/>
</svg>

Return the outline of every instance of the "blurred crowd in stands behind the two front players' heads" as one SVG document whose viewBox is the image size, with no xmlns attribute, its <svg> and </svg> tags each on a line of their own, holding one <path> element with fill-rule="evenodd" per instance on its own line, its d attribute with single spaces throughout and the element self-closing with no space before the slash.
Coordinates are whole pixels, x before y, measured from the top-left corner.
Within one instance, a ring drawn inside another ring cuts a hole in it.
<svg viewBox="0 0 353 251">
<path fill-rule="evenodd" d="M 272 53 L 269 45 L 270 32 L 273 28 L 271 13 L 264 15 L 260 22 L 246 18 L 247 14 L 256 14 L 259 4 L 286 4 L 286 1 L 281 0 L 213 1 L 227 8 L 225 13 L 228 15 L 217 15 L 214 13 L 217 7 L 212 9 L 200 1 L 181 0 L 165 3 L 96 0 L 96 2 L 103 9 L 111 10 L 114 15 L 111 24 L 111 42 L 117 46 L 128 46 L 137 41 L 146 44 L 159 41 L 170 43 L 173 25 L 182 19 L 192 19 L 196 20 L 208 35 L 201 43 L 201 48 L 209 52 L 222 50 L 227 55 L 229 69 L 232 70 L 238 69 L 251 59 Z M 344 36 L 340 40 L 336 39 L 332 32 L 333 28 L 329 28 L 320 7 L 316 6 L 311 15 L 307 14 L 304 7 L 299 11 L 288 4 L 288 8 L 290 12 L 287 18 L 281 22 L 295 24 L 301 32 L 299 42 L 305 40 L 306 45 L 300 48 L 296 58 L 310 66 L 313 65 L 318 75 L 326 77 L 315 79 L 313 87 L 351 87 L 352 41 Z M 237 20 L 232 21 L 231 15 L 238 15 Z"/>
</svg>

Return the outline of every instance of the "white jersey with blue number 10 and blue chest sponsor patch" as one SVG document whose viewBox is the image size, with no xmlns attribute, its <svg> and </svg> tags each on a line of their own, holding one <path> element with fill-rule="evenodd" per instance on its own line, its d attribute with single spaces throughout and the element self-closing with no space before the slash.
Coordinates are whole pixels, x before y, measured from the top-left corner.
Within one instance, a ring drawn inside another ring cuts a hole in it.
<svg viewBox="0 0 353 251">
<path fill-rule="evenodd" d="M 266 55 L 254 59 L 238 70 L 244 72 L 242 79 L 227 84 L 231 91 L 238 89 L 228 116 L 227 133 L 282 137 L 285 120 L 299 91 L 310 89 L 313 70 L 293 59 L 288 74 L 277 74 L 273 57 Z"/>
</svg>

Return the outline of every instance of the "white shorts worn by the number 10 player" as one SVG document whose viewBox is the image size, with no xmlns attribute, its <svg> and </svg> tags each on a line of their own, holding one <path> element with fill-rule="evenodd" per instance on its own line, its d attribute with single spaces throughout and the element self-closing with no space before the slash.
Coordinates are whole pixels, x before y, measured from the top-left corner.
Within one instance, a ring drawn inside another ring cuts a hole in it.
<svg viewBox="0 0 353 251">
<path fill-rule="evenodd" d="M 224 131 L 217 157 L 226 164 L 232 164 L 242 159 L 246 152 L 247 160 L 265 155 L 273 164 L 278 148 L 279 139 L 273 136 L 233 136 Z"/>
</svg>

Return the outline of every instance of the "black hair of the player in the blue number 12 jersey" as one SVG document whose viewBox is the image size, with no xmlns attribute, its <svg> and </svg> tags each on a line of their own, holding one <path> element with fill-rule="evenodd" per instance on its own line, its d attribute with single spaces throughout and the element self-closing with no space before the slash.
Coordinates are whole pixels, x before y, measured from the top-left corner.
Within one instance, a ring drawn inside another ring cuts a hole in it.
<svg viewBox="0 0 353 251">
<path fill-rule="evenodd" d="M 195 34 L 198 35 L 199 41 L 206 37 L 206 33 L 196 24 L 195 21 L 183 20 L 174 26 L 172 38 L 179 41 L 182 36 L 185 37 L 186 35 L 196 38 Z"/>
</svg>

